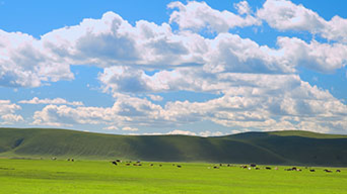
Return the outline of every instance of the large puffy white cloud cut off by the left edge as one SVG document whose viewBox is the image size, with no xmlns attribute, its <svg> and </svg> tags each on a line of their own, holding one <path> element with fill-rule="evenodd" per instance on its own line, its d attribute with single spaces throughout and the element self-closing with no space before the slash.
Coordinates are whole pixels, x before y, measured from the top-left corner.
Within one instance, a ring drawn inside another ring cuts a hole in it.
<svg viewBox="0 0 347 194">
<path fill-rule="evenodd" d="M 74 77 L 64 59 L 48 53 L 42 41 L 1 29 L 0 70 L 0 85 L 7 87 L 36 87 L 43 81 Z"/>
</svg>

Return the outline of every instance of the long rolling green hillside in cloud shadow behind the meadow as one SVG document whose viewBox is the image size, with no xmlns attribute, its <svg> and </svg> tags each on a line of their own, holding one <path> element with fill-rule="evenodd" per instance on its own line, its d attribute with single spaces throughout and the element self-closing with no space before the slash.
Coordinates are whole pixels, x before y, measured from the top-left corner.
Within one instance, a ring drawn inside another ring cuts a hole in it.
<svg viewBox="0 0 347 194">
<path fill-rule="evenodd" d="M 0 128 L 0 156 L 347 166 L 347 136 L 301 131 L 224 137 Z"/>
</svg>

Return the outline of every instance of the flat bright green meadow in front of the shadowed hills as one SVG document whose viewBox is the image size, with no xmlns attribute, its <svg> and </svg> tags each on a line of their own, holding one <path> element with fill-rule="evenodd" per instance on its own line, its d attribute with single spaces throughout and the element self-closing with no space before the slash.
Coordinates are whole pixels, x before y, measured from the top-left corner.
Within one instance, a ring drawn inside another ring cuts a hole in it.
<svg viewBox="0 0 347 194">
<path fill-rule="evenodd" d="M 62 159 L 62 158 L 61 158 Z M 153 164 L 153 166 L 150 166 Z M 162 164 L 162 167 L 159 165 Z M 1 193 L 346 193 L 347 169 L 214 169 L 207 163 L 0 159 Z M 181 165 L 182 168 L 178 168 Z M 290 167 L 291 168 L 291 167 Z M 336 172 L 340 169 L 341 172 Z"/>
</svg>

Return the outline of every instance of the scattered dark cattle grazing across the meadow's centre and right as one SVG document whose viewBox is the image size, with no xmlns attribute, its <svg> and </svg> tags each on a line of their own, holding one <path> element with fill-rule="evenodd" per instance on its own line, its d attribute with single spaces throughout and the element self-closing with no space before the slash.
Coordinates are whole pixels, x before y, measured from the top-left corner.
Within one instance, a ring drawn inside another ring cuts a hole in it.
<svg viewBox="0 0 347 194">
<path fill-rule="evenodd" d="M 123 163 L 122 160 L 115 160 L 115 161 L 111 161 L 111 163 L 113 165 L 119 165 L 120 163 Z M 130 166 L 130 164 L 132 163 L 132 161 L 125 161 L 125 166 Z M 133 166 L 142 166 L 143 164 L 141 163 L 141 161 L 136 161 L 134 163 L 132 163 Z M 150 166 L 154 166 L 153 163 L 150 163 Z M 163 165 L 162 164 L 159 164 L 159 167 L 162 167 Z M 176 166 L 178 168 L 182 168 L 182 165 L 176 165 L 176 164 L 172 164 L 172 166 Z M 219 165 L 213 165 L 213 169 L 219 169 L 220 167 L 222 166 L 226 166 L 226 167 L 235 167 L 236 165 L 232 165 L 232 164 L 219 164 Z M 250 164 L 249 166 L 248 165 L 240 165 L 239 166 L 240 168 L 243 168 L 243 169 L 248 169 L 248 170 L 260 170 L 260 169 L 265 169 L 265 170 L 271 170 L 272 168 L 271 167 L 258 167 L 256 164 Z M 211 167 L 207 167 L 209 169 L 211 169 Z M 273 168 L 274 170 L 279 170 L 278 167 L 275 167 Z M 308 167 L 305 167 L 305 169 L 308 169 Z M 292 167 L 292 168 L 285 168 L 284 169 L 285 171 L 302 171 L 302 169 L 300 168 L 297 168 L 297 167 Z M 316 172 L 315 169 L 309 169 L 310 172 Z M 323 170 L 324 172 L 333 172 L 332 170 L 328 170 L 328 169 L 324 169 Z M 336 172 L 341 172 L 341 170 L 337 169 Z"/>
</svg>

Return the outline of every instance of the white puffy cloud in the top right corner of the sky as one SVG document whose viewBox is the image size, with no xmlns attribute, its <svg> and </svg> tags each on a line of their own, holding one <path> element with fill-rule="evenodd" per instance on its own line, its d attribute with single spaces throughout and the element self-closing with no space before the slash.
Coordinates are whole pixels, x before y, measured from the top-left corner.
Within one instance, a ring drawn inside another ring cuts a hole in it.
<svg viewBox="0 0 347 194">
<path fill-rule="evenodd" d="M 347 41 L 347 19 L 326 21 L 316 12 L 287 0 L 267 0 L 257 16 L 279 30 L 308 31 L 329 40 Z"/>
</svg>

